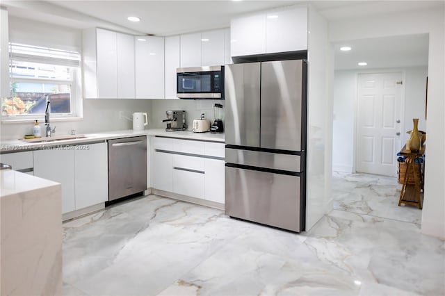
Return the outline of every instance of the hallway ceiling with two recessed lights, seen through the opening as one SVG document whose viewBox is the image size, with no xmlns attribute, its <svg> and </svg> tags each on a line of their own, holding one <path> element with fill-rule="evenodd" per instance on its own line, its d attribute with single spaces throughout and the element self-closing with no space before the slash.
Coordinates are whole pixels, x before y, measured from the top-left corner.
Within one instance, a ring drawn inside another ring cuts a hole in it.
<svg viewBox="0 0 445 296">
<path fill-rule="evenodd" d="M 348 46 L 350 51 L 340 51 Z M 335 69 L 376 69 L 428 65 L 428 34 L 352 40 L 335 44 Z M 365 67 L 357 65 L 366 62 Z"/>
</svg>

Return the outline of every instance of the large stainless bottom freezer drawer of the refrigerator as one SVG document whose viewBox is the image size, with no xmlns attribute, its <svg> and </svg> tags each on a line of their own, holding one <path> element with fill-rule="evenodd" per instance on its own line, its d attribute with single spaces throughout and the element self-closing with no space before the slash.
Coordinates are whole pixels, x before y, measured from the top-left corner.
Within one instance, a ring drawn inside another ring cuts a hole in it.
<svg viewBox="0 0 445 296">
<path fill-rule="evenodd" d="M 300 229 L 300 176 L 225 167 L 225 214 Z"/>
</svg>

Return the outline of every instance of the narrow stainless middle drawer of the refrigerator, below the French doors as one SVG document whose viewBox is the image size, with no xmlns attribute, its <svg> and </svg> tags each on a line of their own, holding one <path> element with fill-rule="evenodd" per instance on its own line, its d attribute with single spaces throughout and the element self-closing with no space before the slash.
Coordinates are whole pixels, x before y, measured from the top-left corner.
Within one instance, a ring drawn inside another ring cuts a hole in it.
<svg viewBox="0 0 445 296">
<path fill-rule="evenodd" d="M 232 148 L 225 149 L 225 161 L 227 161 L 227 163 L 266 167 L 289 172 L 302 172 L 300 158 L 301 156 L 292 154 L 277 154 Z"/>
</svg>

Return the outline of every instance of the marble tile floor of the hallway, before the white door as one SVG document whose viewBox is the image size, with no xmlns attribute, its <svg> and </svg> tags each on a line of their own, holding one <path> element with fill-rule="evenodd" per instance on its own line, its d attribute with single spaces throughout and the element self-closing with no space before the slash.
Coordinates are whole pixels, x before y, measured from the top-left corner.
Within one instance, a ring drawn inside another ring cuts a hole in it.
<svg viewBox="0 0 445 296">
<path fill-rule="evenodd" d="M 416 206 L 398 206 L 401 184 L 395 177 L 375 174 L 332 175 L 333 208 L 373 217 L 421 223 L 422 211 Z"/>
</svg>

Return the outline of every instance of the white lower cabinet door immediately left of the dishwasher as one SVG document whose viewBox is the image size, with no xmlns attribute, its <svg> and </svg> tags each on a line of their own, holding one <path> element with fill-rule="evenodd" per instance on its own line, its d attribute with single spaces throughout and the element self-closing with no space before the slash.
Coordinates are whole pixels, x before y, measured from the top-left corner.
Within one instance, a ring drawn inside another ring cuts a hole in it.
<svg viewBox="0 0 445 296">
<path fill-rule="evenodd" d="M 108 150 L 105 142 L 74 146 L 76 210 L 108 200 Z"/>
</svg>

